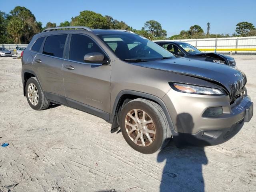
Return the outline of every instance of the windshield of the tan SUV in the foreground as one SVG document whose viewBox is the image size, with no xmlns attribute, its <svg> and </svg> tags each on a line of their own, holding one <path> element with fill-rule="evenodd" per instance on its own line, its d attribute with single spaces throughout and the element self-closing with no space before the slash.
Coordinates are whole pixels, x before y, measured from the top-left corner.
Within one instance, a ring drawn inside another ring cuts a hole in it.
<svg viewBox="0 0 256 192">
<path fill-rule="evenodd" d="M 102 41 L 122 60 L 144 62 L 174 57 L 158 44 L 135 34 L 98 35 Z"/>
</svg>

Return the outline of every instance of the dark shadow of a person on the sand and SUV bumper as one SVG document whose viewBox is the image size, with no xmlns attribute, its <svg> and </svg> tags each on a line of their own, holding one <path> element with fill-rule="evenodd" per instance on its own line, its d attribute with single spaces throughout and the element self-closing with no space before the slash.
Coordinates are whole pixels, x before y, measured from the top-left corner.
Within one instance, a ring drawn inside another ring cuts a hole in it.
<svg viewBox="0 0 256 192">
<path fill-rule="evenodd" d="M 180 120 L 182 120 L 182 122 Z M 194 122 L 190 114 L 179 114 L 176 126 L 180 123 L 194 127 Z M 169 144 L 158 153 L 157 161 L 166 160 L 162 172 L 160 192 L 181 192 L 196 191 L 204 192 L 204 178 L 202 165 L 208 163 L 204 147 L 184 146 L 177 148 L 172 139 Z"/>
</svg>

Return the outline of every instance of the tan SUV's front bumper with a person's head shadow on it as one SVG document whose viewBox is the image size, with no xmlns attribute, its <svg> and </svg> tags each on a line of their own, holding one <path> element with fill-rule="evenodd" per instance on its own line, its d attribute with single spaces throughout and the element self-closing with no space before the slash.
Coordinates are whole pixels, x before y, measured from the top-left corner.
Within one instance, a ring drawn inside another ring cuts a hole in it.
<svg viewBox="0 0 256 192">
<path fill-rule="evenodd" d="M 253 105 L 247 93 L 230 105 L 228 96 L 188 94 L 172 89 L 163 101 L 174 124 L 172 134 L 175 142 L 196 146 L 221 144 L 232 138 L 244 122 L 250 120 L 248 109 L 252 112 Z M 207 108 L 219 106 L 223 108 L 223 114 L 211 118 L 202 117 Z"/>
</svg>

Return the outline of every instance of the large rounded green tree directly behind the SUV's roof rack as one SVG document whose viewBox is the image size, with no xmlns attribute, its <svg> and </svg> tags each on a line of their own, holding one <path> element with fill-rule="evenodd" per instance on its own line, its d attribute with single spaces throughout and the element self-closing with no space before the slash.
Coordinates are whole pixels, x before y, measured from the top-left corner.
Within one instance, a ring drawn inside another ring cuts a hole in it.
<svg viewBox="0 0 256 192">
<path fill-rule="evenodd" d="M 72 26 L 86 26 L 92 29 L 109 29 L 107 18 L 93 11 L 82 11 L 71 18 Z"/>
</svg>

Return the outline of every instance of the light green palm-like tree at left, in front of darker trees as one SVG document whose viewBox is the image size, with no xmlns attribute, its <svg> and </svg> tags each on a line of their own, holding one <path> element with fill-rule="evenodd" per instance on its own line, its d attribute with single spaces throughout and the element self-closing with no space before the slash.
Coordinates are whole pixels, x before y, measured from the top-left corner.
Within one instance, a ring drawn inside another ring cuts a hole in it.
<svg viewBox="0 0 256 192">
<path fill-rule="evenodd" d="M 24 21 L 17 16 L 12 17 L 8 22 L 7 32 L 12 36 L 15 44 L 20 44 L 20 39 L 24 35 L 24 26 Z"/>
</svg>

